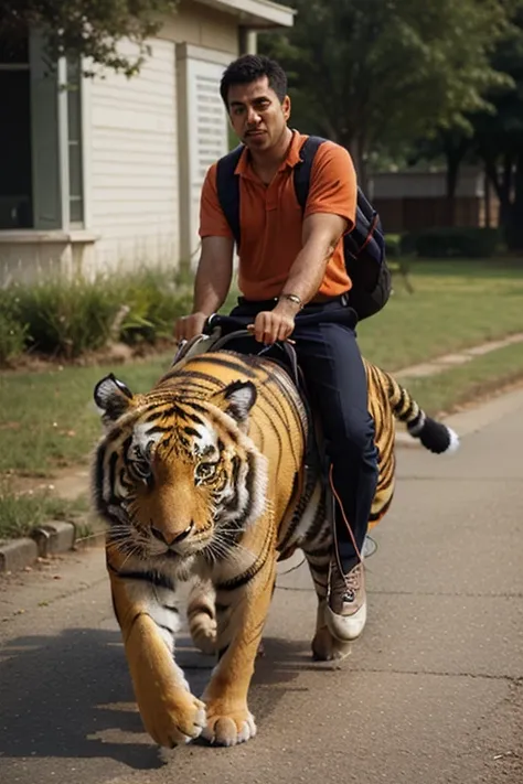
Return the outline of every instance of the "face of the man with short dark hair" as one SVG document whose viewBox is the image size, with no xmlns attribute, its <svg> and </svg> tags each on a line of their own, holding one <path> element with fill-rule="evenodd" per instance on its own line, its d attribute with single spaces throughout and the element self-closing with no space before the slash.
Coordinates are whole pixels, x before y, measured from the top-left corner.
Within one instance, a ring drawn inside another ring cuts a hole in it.
<svg viewBox="0 0 523 784">
<path fill-rule="evenodd" d="M 267 76 L 228 89 L 228 116 L 235 133 L 250 150 L 270 149 L 280 138 L 290 116 L 288 96 L 280 104 Z"/>
</svg>

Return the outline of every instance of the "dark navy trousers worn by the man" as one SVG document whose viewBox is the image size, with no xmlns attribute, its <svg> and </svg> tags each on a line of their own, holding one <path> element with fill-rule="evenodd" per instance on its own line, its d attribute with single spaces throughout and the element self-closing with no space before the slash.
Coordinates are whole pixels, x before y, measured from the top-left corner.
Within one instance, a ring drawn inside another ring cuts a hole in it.
<svg viewBox="0 0 523 784">
<path fill-rule="evenodd" d="M 256 316 L 271 310 L 267 303 L 241 303 L 233 316 Z M 374 422 L 367 409 L 367 385 L 355 335 L 352 309 L 337 300 L 310 304 L 297 315 L 291 339 L 296 341 L 312 410 L 320 417 L 332 480 L 361 552 L 377 483 L 377 450 Z M 242 353 L 259 353 L 263 346 L 246 339 L 235 341 Z M 277 348 L 270 355 L 278 358 Z M 340 504 L 335 502 L 335 539 L 343 571 L 359 561 Z"/>
</svg>

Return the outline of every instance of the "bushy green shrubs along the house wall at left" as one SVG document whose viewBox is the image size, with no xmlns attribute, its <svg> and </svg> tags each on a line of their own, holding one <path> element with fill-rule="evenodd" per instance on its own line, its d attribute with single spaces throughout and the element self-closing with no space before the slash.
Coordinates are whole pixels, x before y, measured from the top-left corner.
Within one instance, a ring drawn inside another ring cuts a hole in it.
<svg viewBox="0 0 523 784">
<path fill-rule="evenodd" d="M 93 281 L 57 278 L 0 290 L 0 363 L 24 350 L 74 358 L 109 341 L 154 343 L 190 311 L 190 271 L 143 269 Z"/>
</svg>

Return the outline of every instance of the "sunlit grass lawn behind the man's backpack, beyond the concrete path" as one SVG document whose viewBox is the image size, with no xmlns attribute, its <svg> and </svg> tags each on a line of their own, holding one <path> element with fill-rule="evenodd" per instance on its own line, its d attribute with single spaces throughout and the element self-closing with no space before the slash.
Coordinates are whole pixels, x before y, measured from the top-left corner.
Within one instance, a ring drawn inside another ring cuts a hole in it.
<svg viewBox="0 0 523 784">
<path fill-rule="evenodd" d="M 359 326 L 362 352 L 387 370 L 523 331 L 523 259 L 414 261 L 386 308 Z"/>
</svg>

